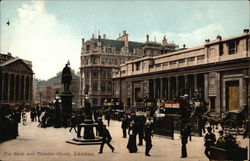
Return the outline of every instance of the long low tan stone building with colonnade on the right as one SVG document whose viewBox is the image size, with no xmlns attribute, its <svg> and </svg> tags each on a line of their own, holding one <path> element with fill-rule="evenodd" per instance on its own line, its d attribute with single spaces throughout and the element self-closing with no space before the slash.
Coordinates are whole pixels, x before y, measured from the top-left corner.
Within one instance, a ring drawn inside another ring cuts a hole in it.
<svg viewBox="0 0 250 161">
<path fill-rule="evenodd" d="M 137 98 L 172 100 L 187 93 L 191 100 L 199 90 L 217 113 L 249 106 L 249 48 L 245 29 L 239 36 L 218 35 L 201 46 L 129 61 L 113 70 L 114 96 L 131 108 Z"/>
</svg>

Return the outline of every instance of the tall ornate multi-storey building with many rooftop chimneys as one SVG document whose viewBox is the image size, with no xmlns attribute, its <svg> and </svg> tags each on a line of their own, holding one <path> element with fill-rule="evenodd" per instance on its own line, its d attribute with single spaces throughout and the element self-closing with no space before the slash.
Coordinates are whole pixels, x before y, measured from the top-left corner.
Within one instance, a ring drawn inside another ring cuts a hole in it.
<svg viewBox="0 0 250 161">
<path fill-rule="evenodd" d="M 106 98 L 113 96 L 112 70 L 128 60 L 138 59 L 147 55 L 160 55 L 176 50 L 178 46 L 168 43 L 164 37 L 162 44 L 149 41 L 129 41 L 128 34 L 117 40 L 107 39 L 105 35 L 92 37 L 88 41 L 82 39 L 80 67 L 80 104 L 83 105 L 84 94 L 88 94 L 92 105 L 102 105 Z"/>
</svg>

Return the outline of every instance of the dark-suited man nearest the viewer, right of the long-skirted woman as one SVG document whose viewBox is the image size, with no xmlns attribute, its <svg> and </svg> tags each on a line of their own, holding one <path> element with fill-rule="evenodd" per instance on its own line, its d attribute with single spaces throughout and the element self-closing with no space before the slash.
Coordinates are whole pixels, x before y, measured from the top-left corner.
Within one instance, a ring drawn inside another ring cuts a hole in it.
<svg viewBox="0 0 250 161">
<path fill-rule="evenodd" d="M 145 155 L 150 156 L 149 151 L 152 148 L 152 140 L 151 137 L 153 136 L 152 134 L 152 126 L 150 122 L 147 122 L 144 127 L 144 140 L 146 142 L 146 148 L 145 148 Z"/>
</svg>

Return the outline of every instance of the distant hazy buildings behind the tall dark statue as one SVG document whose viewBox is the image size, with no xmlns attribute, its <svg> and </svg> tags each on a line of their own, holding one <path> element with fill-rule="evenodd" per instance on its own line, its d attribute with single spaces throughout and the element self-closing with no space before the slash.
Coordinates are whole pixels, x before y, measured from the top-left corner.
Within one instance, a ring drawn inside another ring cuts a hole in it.
<svg viewBox="0 0 250 161">
<path fill-rule="evenodd" d="M 71 70 L 72 81 L 71 81 L 71 93 L 73 94 L 72 103 L 79 106 L 79 76 L 75 74 L 74 70 Z M 62 72 L 57 73 L 55 77 L 48 80 L 34 79 L 34 102 L 36 104 L 47 105 L 55 100 L 56 91 L 61 94 L 63 92 L 63 84 L 61 83 Z"/>
</svg>

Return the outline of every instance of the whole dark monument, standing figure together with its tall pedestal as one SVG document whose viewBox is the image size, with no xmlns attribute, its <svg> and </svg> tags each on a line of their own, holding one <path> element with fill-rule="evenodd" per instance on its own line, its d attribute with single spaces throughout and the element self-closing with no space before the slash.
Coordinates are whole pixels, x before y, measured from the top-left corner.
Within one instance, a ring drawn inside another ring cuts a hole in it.
<svg viewBox="0 0 250 161">
<path fill-rule="evenodd" d="M 70 124 L 70 118 L 72 114 L 72 93 L 70 92 L 70 84 L 72 80 L 71 70 L 68 67 L 68 63 L 65 65 L 62 71 L 62 84 L 64 87 L 60 97 L 62 100 L 62 126 L 68 127 Z"/>
</svg>

